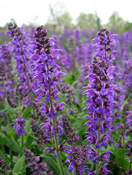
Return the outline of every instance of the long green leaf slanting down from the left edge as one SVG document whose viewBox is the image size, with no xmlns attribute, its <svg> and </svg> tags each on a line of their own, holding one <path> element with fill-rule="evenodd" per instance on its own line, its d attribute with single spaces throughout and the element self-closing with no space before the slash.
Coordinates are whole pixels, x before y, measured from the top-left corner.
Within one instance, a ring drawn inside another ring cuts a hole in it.
<svg viewBox="0 0 132 175">
<path fill-rule="evenodd" d="M 7 147 L 9 147 L 12 151 L 16 153 L 22 153 L 22 149 L 15 142 L 15 140 L 11 140 L 6 135 L 0 133 L 0 142 L 4 143 Z"/>
</svg>

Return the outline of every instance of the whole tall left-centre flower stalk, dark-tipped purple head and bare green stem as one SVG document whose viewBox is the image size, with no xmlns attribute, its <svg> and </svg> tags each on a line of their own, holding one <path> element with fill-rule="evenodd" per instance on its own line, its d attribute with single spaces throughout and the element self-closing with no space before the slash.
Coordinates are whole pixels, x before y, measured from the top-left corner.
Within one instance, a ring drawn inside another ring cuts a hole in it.
<svg viewBox="0 0 132 175">
<path fill-rule="evenodd" d="M 62 110 L 62 106 L 64 103 L 57 104 L 58 90 L 55 88 L 55 84 L 57 81 L 61 81 L 59 76 L 62 72 L 57 70 L 57 65 L 55 64 L 55 59 L 58 59 L 57 53 L 58 50 L 52 49 L 54 42 L 52 39 L 47 38 L 47 31 L 43 26 L 38 27 L 35 30 L 35 41 L 33 42 L 34 54 L 32 55 L 33 70 L 34 70 L 34 79 L 37 81 L 38 89 L 36 90 L 36 94 L 38 94 L 38 98 L 45 98 L 46 103 L 40 102 L 42 107 L 40 108 L 41 114 L 43 117 L 47 117 L 49 123 L 51 124 L 51 128 L 49 128 L 49 124 L 42 123 L 42 127 L 44 128 L 44 132 L 52 130 L 51 136 L 54 136 L 55 140 L 55 155 L 57 158 L 58 166 L 60 169 L 60 174 L 64 175 L 64 170 L 62 166 L 62 161 L 60 157 L 60 151 L 58 147 L 57 140 L 57 126 L 56 126 L 56 115 L 57 111 Z M 52 118 L 52 122 L 51 122 Z M 52 125 L 53 124 L 53 125 Z M 45 127 L 47 127 L 47 131 L 45 131 Z M 51 137 L 50 136 L 50 137 Z M 48 152 L 51 151 L 50 148 L 46 148 Z"/>
</svg>

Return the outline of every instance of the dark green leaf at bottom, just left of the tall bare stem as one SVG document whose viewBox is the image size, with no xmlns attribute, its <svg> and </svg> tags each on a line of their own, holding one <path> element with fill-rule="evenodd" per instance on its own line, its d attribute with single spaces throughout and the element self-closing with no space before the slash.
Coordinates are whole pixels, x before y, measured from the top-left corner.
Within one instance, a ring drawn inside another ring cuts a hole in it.
<svg viewBox="0 0 132 175">
<path fill-rule="evenodd" d="M 40 157 L 43 157 L 44 162 L 47 163 L 50 171 L 52 170 L 55 175 L 60 175 L 58 165 L 51 156 L 46 156 L 45 154 L 42 154 Z"/>
</svg>

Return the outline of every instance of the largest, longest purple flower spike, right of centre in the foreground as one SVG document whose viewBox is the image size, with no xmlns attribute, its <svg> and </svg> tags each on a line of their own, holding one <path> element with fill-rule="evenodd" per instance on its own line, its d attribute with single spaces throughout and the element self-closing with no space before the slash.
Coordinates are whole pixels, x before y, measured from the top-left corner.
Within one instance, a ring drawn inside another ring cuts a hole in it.
<svg viewBox="0 0 132 175">
<path fill-rule="evenodd" d="M 114 35 L 110 35 L 108 30 L 102 29 L 98 32 L 98 38 L 94 39 L 96 52 L 91 64 L 91 73 L 87 77 L 89 84 L 85 91 L 88 97 L 86 109 L 90 115 L 87 117 L 89 120 L 87 140 L 89 145 L 95 145 L 96 150 L 94 154 L 88 152 L 88 157 L 90 156 L 93 163 L 97 164 L 97 174 L 99 174 L 99 158 L 106 163 L 110 154 L 110 152 L 105 155 L 100 154 L 101 147 L 113 142 L 109 136 L 114 111 L 114 96 L 116 96 L 115 86 L 112 84 L 114 67 L 111 65 L 113 37 Z M 92 135 L 89 134 L 90 132 Z"/>
</svg>

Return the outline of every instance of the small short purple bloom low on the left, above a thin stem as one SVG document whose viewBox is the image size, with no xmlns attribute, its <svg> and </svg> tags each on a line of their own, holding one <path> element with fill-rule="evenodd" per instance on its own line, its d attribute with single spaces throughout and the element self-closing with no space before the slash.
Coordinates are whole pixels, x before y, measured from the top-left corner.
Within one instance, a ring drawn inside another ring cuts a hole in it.
<svg viewBox="0 0 132 175">
<path fill-rule="evenodd" d="M 26 135 L 26 132 L 24 131 L 24 124 L 25 119 L 22 118 L 22 116 L 15 119 L 15 123 L 11 123 L 13 125 L 13 129 L 15 129 L 15 133 L 19 136 Z"/>
</svg>

